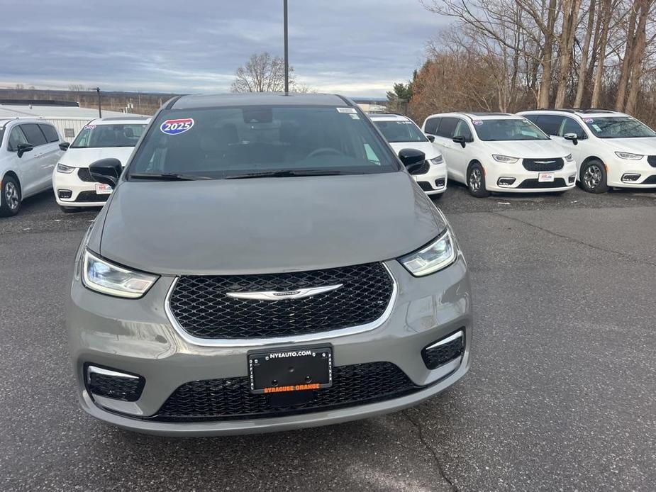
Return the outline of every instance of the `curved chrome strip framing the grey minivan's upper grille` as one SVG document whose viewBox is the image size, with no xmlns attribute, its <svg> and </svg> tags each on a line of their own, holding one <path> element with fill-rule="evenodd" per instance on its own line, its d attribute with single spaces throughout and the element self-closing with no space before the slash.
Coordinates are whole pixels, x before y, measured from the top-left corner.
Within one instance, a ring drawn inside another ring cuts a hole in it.
<svg viewBox="0 0 656 492">
<path fill-rule="evenodd" d="M 178 276 L 175 277 L 174 281 L 171 282 L 169 291 L 166 294 L 166 298 L 164 300 L 164 311 L 167 315 L 167 318 L 169 318 L 169 322 L 173 325 L 173 328 L 178 332 L 178 335 L 180 335 L 185 342 L 190 343 L 191 345 L 200 345 L 201 347 L 262 347 L 266 345 L 294 345 L 297 343 L 326 340 L 326 338 L 355 335 L 356 333 L 367 332 L 378 328 L 385 321 L 387 321 L 387 318 L 389 318 L 389 315 L 391 315 L 391 312 L 394 309 L 394 304 L 396 303 L 396 296 L 398 296 L 399 293 L 399 286 L 397 286 L 396 279 L 394 279 L 394 275 L 391 273 L 391 270 L 387 267 L 387 264 L 385 264 L 385 262 L 381 262 L 381 264 L 383 265 L 385 270 L 387 270 L 387 274 L 391 279 L 391 284 L 392 284 L 391 296 L 389 298 L 389 303 L 387 304 L 387 308 L 385 308 L 385 311 L 382 313 L 382 315 L 380 315 L 380 317 L 377 320 L 374 320 L 371 323 L 367 323 L 366 325 L 350 326 L 348 328 L 340 328 L 340 330 L 312 333 L 310 335 L 288 335 L 285 337 L 274 337 L 274 338 L 239 338 L 239 339 L 226 340 L 225 338 L 221 339 L 221 338 L 194 337 L 193 335 L 190 335 L 187 331 L 185 331 L 184 328 L 182 328 L 182 326 L 177 322 L 177 319 L 175 319 L 173 312 L 171 311 L 171 306 L 169 301 L 171 298 L 171 294 L 173 293 L 173 289 L 175 289 L 175 286 L 179 279 Z"/>
</svg>

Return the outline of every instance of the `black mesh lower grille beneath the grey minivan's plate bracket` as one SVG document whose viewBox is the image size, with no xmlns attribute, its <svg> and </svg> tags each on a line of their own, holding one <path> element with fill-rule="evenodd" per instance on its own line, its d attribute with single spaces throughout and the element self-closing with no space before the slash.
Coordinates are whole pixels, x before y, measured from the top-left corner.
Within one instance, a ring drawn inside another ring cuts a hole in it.
<svg viewBox="0 0 656 492">
<path fill-rule="evenodd" d="M 153 420 L 239 420 L 293 415 L 399 398 L 421 386 L 415 386 L 390 362 L 369 362 L 333 367 L 330 388 L 274 395 L 253 394 L 249 388 L 248 377 L 191 381 L 169 396 Z M 286 396 L 306 398 L 301 403 L 285 405 L 279 397 Z"/>
</svg>

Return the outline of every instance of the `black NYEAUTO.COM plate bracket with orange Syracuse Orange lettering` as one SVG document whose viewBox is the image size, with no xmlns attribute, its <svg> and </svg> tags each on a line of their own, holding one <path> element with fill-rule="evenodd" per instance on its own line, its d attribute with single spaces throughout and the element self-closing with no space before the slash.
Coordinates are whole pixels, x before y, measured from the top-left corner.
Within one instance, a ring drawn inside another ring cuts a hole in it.
<svg viewBox="0 0 656 492">
<path fill-rule="evenodd" d="M 330 388 L 333 349 L 305 347 L 248 354 L 251 393 L 286 393 Z"/>
</svg>

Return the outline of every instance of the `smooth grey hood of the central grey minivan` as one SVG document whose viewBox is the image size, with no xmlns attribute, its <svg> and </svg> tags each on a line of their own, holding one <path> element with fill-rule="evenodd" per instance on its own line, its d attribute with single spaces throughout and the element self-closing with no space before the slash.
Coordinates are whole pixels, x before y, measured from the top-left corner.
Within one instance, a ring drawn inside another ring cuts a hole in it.
<svg viewBox="0 0 656 492">
<path fill-rule="evenodd" d="M 157 274 L 274 273 L 382 261 L 416 250 L 446 227 L 406 172 L 122 181 L 104 211 L 91 250 Z"/>
</svg>

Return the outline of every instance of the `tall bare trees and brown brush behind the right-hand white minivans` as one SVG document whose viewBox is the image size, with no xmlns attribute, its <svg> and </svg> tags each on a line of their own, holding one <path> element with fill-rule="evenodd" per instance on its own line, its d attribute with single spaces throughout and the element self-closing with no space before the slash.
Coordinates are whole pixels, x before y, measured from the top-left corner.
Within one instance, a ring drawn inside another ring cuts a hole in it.
<svg viewBox="0 0 656 492">
<path fill-rule="evenodd" d="M 388 94 L 435 111 L 610 108 L 656 124 L 656 0 L 421 0 L 452 19 Z M 409 100 L 408 100 L 409 99 Z"/>
</svg>

